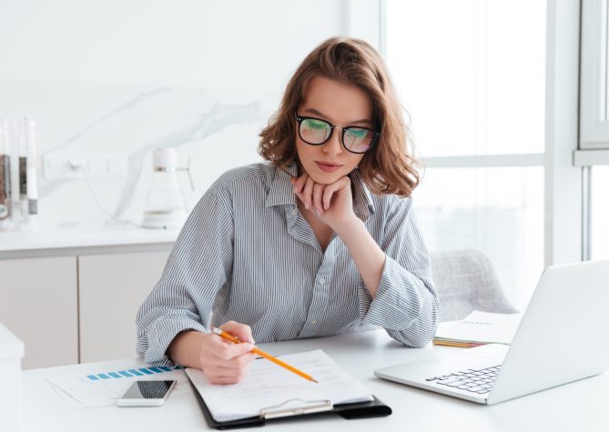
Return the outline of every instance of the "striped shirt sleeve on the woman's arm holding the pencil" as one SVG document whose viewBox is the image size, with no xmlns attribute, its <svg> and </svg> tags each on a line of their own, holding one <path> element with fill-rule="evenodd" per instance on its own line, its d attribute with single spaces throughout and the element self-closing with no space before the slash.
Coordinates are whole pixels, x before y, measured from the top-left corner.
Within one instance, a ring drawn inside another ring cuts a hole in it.
<svg viewBox="0 0 609 432">
<path fill-rule="evenodd" d="M 208 190 L 188 216 L 157 285 L 137 311 L 137 354 L 173 366 L 167 347 L 184 330 L 206 331 L 232 268 L 233 220 L 227 199 Z"/>
</svg>

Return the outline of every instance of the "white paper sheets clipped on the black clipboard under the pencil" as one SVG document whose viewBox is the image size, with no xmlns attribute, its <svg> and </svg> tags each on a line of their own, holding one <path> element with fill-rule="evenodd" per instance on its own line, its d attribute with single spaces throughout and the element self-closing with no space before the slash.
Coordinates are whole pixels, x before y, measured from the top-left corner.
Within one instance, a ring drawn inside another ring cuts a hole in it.
<svg viewBox="0 0 609 432">
<path fill-rule="evenodd" d="M 217 421 L 257 417 L 282 408 L 306 408 L 320 403 L 331 407 L 374 399 L 368 388 L 320 349 L 280 358 L 319 382 L 310 382 L 262 358 L 255 360 L 248 375 L 233 385 L 210 384 L 198 369 L 188 368 L 186 373 Z"/>
</svg>

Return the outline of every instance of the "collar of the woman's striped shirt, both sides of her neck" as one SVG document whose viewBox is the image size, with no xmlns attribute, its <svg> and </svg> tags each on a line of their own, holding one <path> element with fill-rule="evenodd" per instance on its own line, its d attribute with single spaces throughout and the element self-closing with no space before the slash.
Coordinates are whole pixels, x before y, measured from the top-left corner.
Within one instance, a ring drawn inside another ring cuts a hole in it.
<svg viewBox="0 0 609 432">
<path fill-rule="evenodd" d="M 291 177 L 298 176 L 298 166 L 291 164 L 286 171 L 275 167 L 275 176 L 270 183 L 265 206 L 296 206 L 297 198 L 293 192 Z M 365 221 L 370 216 L 370 212 L 374 213 L 370 190 L 364 183 L 359 169 L 351 171 L 349 176 L 353 187 L 353 211 L 356 216 Z"/>
</svg>

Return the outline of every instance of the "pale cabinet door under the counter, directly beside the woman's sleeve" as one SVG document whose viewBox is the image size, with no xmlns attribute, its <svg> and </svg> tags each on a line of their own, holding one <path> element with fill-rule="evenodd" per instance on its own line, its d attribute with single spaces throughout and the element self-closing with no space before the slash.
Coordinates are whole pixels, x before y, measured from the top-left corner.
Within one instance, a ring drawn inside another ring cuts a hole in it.
<svg viewBox="0 0 609 432">
<path fill-rule="evenodd" d="M 168 250 L 78 257 L 82 363 L 136 355 L 137 308 L 167 256 Z"/>
</svg>

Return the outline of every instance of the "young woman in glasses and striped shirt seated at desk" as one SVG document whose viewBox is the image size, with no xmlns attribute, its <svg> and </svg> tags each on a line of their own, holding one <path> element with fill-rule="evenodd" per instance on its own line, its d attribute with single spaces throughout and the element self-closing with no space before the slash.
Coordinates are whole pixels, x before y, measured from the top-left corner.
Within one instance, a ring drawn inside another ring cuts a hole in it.
<svg viewBox="0 0 609 432">
<path fill-rule="evenodd" d="M 428 344 L 440 305 L 412 215 L 419 177 L 380 55 L 357 39 L 319 45 L 260 136 L 267 162 L 220 176 L 189 216 L 138 311 L 138 353 L 235 383 L 254 339 L 383 327 Z"/>
</svg>

